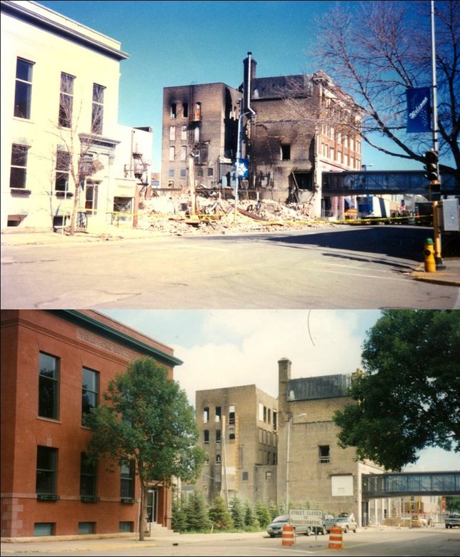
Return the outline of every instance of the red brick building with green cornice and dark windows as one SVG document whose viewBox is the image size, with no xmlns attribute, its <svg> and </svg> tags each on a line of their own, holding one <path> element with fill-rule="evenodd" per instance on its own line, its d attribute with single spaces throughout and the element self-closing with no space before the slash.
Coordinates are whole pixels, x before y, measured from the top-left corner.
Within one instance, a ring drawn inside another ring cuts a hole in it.
<svg viewBox="0 0 460 557">
<path fill-rule="evenodd" d="M 88 466 L 85 413 L 115 374 L 160 342 L 91 310 L 1 310 L 1 538 L 137 531 L 139 482 L 129 466 Z M 108 464 L 108 463 L 107 463 Z M 171 492 L 149 492 L 149 518 L 171 528 Z"/>
</svg>

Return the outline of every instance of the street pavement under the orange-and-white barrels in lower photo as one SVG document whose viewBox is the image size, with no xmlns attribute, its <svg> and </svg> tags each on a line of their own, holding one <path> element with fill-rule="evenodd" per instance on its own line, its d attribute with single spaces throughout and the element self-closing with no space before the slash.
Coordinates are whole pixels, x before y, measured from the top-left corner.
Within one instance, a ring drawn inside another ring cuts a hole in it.
<svg viewBox="0 0 460 557">
<path fill-rule="evenodd" d="M 195 538 L 195 539 L 193 539 Z M 144 542 L 114 539 L 101 541 L 50 541 L 45 543 L 2 544 L 1 555 L 15 553 L 34 556 L 341 556 L 341 557 L 454 557 L 460 553 L 460 531 L 445 528 L 359 528 L 346 533 L 341 548 L 329 548 L 329 536 L 298 536 L 294 546 L 283 546 L 281 538 L 264 533 L 191 534 L 156 538 Z"/>
</svg>

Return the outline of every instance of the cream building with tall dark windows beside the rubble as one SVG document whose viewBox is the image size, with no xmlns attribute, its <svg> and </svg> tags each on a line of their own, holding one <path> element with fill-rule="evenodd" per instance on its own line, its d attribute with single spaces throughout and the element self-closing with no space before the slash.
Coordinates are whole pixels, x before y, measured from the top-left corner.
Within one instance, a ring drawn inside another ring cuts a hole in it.
<svg viewBox="0 0 460 557">
<path fill-rule="evenodd" d="M 117 121 L 128 57 L 119 41 L 40 4 L 1 1 L 2 230 L 68 224 L 74 205 L 89 229 L 134 222 L 152 133 Z"/>
</svg>

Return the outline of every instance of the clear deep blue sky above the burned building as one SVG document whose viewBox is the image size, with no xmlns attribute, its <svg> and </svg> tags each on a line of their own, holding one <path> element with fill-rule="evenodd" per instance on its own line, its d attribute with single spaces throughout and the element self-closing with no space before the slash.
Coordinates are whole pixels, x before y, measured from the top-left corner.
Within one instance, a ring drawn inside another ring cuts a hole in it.
<svg viewBox="0 0 460 557">
<path fill-rule="evenodd" d="M 356 6 L 357 1 L 341 0 Z M 334 1 L 40 1 L 121 42 L 119 123 L 152 126 L 153 170 L 161 158 L 163 88 L 191 83 L 243 81 L 243 60 L 251 52 L 257 76 L 311 73 L 321 68 L 306 52 L 314 18 Z M 420 163 L 388 157 L 363 145 L 368 170 L 422 170 Z"/>
</svg>

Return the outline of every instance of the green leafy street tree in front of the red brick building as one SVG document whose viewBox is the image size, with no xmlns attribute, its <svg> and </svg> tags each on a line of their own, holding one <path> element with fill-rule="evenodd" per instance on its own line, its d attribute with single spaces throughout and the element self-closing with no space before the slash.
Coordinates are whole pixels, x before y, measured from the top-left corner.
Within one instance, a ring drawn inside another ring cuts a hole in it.
<svg viewBox="0 0 460 557">
<path fill-rule="evenodd" d="M 139 538 L 146 528 L 146 491 L 170 487 L 174 479 L 192 481 L 204 463 L 196 446 L 194 409 L 179 384 L 154 359 L 138 359 L 116 375 L 104 393 L 106 404 L 91 409 L 85 421 L 93 433 L 88 454 L 118 465 L 134 463 L 141 486 Z"/>
</svg>

